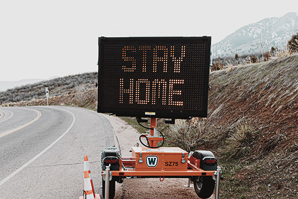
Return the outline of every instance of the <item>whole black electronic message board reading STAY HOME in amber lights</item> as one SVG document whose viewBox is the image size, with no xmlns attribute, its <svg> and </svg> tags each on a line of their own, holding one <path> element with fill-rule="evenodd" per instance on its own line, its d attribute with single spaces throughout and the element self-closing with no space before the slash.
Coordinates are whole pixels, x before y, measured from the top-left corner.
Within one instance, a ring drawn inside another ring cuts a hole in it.
<svg viewBox="0 0 298 199">
<path fill-rule="evenodd" d="M 98 112 L 207 116 L 211 37 L 100 37 L 98 44 Z"/>
</svg>

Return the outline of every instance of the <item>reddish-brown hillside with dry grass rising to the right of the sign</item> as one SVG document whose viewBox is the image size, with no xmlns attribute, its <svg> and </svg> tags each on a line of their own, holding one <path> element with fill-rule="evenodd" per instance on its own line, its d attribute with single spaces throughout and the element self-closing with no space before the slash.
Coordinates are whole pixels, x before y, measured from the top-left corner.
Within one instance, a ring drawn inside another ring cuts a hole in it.
<svg viewBox="0 0 298 199">
<path fill-rule="evenodd" d="M 297 199 L 298 56 L 213 72 L 210 86 L 201 139 L 220 157 L 224 198 Z"/>
</svg>

